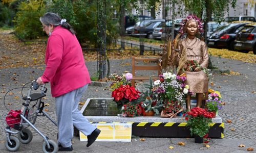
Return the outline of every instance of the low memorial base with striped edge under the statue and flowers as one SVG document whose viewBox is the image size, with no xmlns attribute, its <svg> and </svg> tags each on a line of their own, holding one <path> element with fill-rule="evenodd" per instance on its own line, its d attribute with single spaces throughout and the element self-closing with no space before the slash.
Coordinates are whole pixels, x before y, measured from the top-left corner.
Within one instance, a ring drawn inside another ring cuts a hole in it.
<svg viewBox="0 0 256 153">
<path fill-rule="evenodd" d="M 115 116 L 115 109 L 111 102 L 112 99 L 88 99 L 84 104 L 81 112 L 89 121 L 94 123 L 110 123 L 110 122 L 130 122 L 132 124 L 132 135 L 139 137 L 190 137 L 190 132 L 186 127 L 184 117 L 162 118 L 156 116 L 138 116 L 138 117 L 121 117 Z M 98 106 L 98 108 L 96 108 Z M 103 106 L 103 107 L 102 107 Z M 112 108 L 112 109 L 110 109 Z M 98 110 L 97 110 L 98 109 Z M 93 111 L 95 110 L 95 111 Z M 109 110 L 110 112 L 102 112 Z M 92 112 L 93 116 L 89 112 Z M 97 116 L 95 113 L 100 112 Z M 89 114 L 88 114 L 89 113 Z M 108 116 L 104 116 L 106 114 Z M 113 115 L 112 115 L 113 114 Z M 223 138 L 224 123 L 220 116 L 212 118 L 212 124 L 209 130 L 209 137 Z"/>
</svg>

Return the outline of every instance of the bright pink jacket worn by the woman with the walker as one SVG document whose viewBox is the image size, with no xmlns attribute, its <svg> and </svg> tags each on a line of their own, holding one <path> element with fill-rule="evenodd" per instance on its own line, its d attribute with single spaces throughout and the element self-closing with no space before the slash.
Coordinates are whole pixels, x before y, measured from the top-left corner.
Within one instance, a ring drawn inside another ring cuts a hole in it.
<svg viewBox="0 0 256 153">
<path fill-rule="evenodd" d="M 60 25 L 48 38 L 45 62 L 46 69 L 41 79 L 44 83 L 51 83 L 53 97 L 91 83 L 76 36 Z"/>
</svg>

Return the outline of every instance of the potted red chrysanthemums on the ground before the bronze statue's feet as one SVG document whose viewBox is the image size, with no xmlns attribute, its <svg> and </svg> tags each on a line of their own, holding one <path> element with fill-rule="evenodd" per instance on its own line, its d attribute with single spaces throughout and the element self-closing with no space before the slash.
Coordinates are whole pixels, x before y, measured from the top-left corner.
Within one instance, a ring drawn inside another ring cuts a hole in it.
<svg viewBox="0 0 256 153">
<path fill-rule="evenodd" d="M 190 135 L 195 137 L 196 143 L 203 143 L 203 137 L 209 132 L 210 123 L 214 113 L 207 112 L 207 109 L 195 107 L 190 112 L 183 114 L 187 120 L 187 127 Z"/>
</svg>

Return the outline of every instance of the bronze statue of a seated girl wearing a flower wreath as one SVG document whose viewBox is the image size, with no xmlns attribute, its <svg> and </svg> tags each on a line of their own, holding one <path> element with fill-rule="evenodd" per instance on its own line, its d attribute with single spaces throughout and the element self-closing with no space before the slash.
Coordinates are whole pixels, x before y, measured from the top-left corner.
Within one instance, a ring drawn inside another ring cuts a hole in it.
<svg viewBox="0 0 256 153">
<path fill-rule="evenodd" d="M 178 52 L 176 65 L 183 68 L 186 74 L 186 84 L 189 85 L 190 91 L 196 93 L 197 107 L 201 107 L 203 93 L 208 91 L 208 77 L 202 68 L 208 66 L 207 46 L 204 41 L 196 37 L 197 34 L 203 32 L 203 26 L 200 19 L 195 15 L 189 15 L 183 19 L 181 23 L 180 33 L 186 33 L 187 36 L 179 40 L 177 48 Z M 195 60 L 201 66 L 191 70 L 186 63 Z M 186 100 L 186 109 L 190 110 L 190 98 L 188 94 Z"/>
</svg>

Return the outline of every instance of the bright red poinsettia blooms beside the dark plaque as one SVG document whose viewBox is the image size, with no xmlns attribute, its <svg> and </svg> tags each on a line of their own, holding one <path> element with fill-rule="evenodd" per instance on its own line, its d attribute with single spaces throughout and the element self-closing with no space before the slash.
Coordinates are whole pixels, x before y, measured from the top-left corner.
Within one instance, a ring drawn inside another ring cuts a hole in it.
<svg viewBox="0 0 256 153">
<path fill-rule="evenodd" d="M 140 97 L 139 93 L 140 92 L 138 90 L 136 90 L 134 87 L 130 87 L 130 85 L 121 85 L 112 92 L 112 97 L 114 97 L 115 101 L 123 99 L 132 101 Z"/>
</svg>

